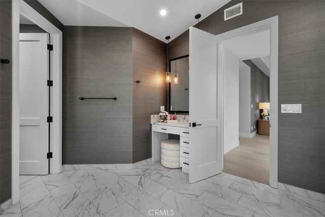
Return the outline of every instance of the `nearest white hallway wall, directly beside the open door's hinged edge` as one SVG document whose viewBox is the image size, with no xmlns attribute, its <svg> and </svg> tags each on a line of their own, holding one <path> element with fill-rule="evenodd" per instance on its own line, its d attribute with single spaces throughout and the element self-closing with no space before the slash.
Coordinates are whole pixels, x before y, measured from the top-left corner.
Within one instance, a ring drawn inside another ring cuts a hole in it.
<svg viewBox="0 0 325 217">
<path fill-rule="evenodd" d="M 239 145 L 239 58 L 224 47 L 224 147 Z"/>
</svg>

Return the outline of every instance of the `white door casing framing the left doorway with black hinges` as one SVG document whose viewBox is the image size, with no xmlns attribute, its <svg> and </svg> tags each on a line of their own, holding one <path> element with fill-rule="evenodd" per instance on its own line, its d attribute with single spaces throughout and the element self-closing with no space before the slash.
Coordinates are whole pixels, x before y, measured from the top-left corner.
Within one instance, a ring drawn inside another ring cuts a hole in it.
<svg viewBox="0 0 325 217">
<path fill-rule="evenodd" d="M 12 201 L 19 201 L 19 14 L 50 34 L 52 116 L 50 173 L 62 171 L 62 32 L 22 0 L 12 1 Z M 45 84 L 44 84 L 45 85 Z"/>
</svg>

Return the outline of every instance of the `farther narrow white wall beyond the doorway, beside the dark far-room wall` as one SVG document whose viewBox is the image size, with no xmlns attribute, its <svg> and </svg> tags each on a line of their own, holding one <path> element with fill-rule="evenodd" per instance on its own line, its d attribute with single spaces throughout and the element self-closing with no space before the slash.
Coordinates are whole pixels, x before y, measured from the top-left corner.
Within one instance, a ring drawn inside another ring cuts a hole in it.
<svg viewBox="0 0 325 217">
<path fill-rule="evenodd" d="M 250 137 L 250 67 L 239 61 L 239 136 Z"/>
</svg>

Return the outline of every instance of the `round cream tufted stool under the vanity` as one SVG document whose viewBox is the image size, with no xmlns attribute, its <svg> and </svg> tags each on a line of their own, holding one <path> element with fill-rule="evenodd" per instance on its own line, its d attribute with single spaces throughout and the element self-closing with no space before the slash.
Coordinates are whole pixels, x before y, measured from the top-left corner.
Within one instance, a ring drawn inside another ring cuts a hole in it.
<svg viewBox="0 0 325 217">
<path fill-rule="evenodd" d="M 167 168 L 176 169 L 179 166 L 179 140 L 168 139 L 160 143 L 161 165 Z"/>
</svg>

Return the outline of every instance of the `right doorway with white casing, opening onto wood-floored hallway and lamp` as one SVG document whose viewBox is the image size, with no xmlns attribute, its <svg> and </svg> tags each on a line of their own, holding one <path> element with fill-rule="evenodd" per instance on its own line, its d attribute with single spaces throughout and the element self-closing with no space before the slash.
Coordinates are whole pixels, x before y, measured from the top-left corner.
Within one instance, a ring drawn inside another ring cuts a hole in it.
<svg viewBox="0 0 325 217">
<path fill-rule="evenodd" d="M 223 39 L 224 46 L 223 171 L 277 188 L 278 17 L 218 36 Z M 264 69 L 261 70 L 263 67 L 256 66 L 258 61 L 269 66 L 269 77 L 263 73 Z M 256 77 L 256 71 L 264 79 Z M 246 84 L 240 85 L 243 79 Z M 257 87 L 252 87 L 252 83 L 257 83 Z M 265 102 L 270 106 L 269 119 L 262 121 L 267 123 L 268 133 L 258 129 L 262 126 L 258 122 L 263 111 L 259 103 Z"/>
</svg>

